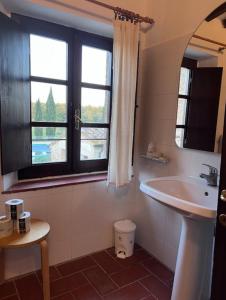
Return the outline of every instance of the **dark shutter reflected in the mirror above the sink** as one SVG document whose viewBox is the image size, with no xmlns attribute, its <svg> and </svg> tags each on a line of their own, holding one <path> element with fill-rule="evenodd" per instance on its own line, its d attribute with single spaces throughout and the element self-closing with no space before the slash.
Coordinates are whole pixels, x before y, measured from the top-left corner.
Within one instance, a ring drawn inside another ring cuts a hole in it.
<svg viewBox="0 0 226 300">
<path fill-rule="evenodd" d="M 192 83 L 184 147 L 214 151 L 222 68 L 197 68 Z"/>
</svg>

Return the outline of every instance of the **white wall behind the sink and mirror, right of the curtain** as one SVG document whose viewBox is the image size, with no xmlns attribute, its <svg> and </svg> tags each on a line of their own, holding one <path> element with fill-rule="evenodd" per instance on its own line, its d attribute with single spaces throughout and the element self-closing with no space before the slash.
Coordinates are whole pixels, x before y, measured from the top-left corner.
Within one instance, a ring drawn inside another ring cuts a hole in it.
<svg viewBox="0 0 226 300">
<path fill-rule="evenodd" d="M 142 95 L 138 114 L 137 153 L 145 153 L 150 141 L 169 158 L 159 165 L 137 155 L 139 180 L 167 175 L 199 175 L 207 171 L 201 165 L 220 167 L 220 155 L 182 150 L 175 144 L 175 125 L 179 71 L 187 43 L 201 21 L 223 1 L 162 0 L 150 4 L 150 13 L 158 22 L 147 35 L 142 52 Z M 154 200 L 137 194 L 136 222 L 138 242 L 171 269 L 175 268 L 181 229 L 178 214 Z"/>
</svg>

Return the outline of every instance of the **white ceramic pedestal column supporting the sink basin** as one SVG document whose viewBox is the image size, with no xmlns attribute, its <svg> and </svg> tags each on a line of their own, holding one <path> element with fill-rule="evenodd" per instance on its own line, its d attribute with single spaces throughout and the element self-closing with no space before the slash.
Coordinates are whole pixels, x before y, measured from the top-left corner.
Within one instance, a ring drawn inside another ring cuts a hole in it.
<svg viewBox="0 0 226 300">
<path fill-rule="evenodd" d="M 214 222 L 183 216 L 171 300 L 210 298 Z"/>
</svg>

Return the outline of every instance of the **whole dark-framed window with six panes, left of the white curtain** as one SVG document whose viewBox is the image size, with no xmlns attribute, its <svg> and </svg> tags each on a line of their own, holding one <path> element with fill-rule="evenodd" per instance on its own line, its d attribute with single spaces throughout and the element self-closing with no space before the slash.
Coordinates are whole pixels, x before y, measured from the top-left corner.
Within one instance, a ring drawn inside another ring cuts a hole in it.
<svg viewBox="0 0 226 300">
<path fill-rule="evenodd" d="M 17 18 L 30 37 L 32 139 L 19 178 L 107 170 L 112 40 Z"/>
</svg>

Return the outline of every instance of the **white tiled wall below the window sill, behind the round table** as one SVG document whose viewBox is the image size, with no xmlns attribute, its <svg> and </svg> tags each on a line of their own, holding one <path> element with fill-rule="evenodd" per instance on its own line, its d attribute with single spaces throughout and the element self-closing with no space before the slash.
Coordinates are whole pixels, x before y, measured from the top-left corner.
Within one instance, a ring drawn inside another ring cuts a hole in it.
<svg viewBox="0 0 226 300">
<path fill-rule="evenodd" d="M 113 223 L 133 217 L 135 187 L 118 193 L 106 182 L 87 183 L 49 190 L 2 195 L 4 201 L 21 198 L 34 218 L 49 222 L 50 264 L 99 251 L 113 245 Z M 6 251 L 6 276 L 23 274 L 39 267 L 37 247 Z"/>
</svg>

